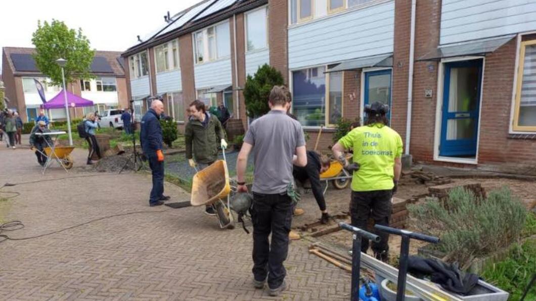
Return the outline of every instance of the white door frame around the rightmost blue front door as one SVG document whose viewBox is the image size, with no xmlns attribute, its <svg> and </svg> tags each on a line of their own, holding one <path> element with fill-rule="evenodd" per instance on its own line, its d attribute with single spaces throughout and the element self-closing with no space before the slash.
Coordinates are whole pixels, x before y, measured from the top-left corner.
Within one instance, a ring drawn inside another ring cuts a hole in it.
<svg viewBox="0 0 536 301">
<path fill-rule="evenodd" d="M 443 58 L 439 62 L 437 67 L 437 101 L 436 101 L 436 120 L 434 130 L 434 161 L 449 162 L 449 163 L 462 163 L 462 164 L 478 164 L 478 153 L 480 147 L 480 123 L 482 120 L 482 95 L 484 94 L 481 88 L 479 108 L 478 108 L 478 127 L 477 127 L 477 152 L 474 159 L 466 159 L 461 157 L 445 157 L 439 155 L 439 146 L 441 143 L 441 119 L 443 118 L 443 84 L 445 79 L 445 63 L 471 61 L 472 59 L 482 59 L 482 78 L 480 81 L 480 87 L 484 85 L 484 77 L 486 76 L 486 57 L 481 56 L 463 56 L 463 57 L 451 57 Z M 406 143 L 410 143 L 407 141 Z"/>
</svg>

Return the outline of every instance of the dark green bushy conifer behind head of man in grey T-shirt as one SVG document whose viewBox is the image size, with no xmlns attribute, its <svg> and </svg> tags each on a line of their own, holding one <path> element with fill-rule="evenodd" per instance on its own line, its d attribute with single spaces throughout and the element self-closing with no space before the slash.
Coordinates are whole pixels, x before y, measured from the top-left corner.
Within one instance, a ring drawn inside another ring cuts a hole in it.
<svg viewBox="0 0 536 301">
<path fill-rule="evenodd" d="M 268 96 L 273 86 L 284 85 L 281 72 L 264 64 L 254 76 L 248 75 L 244 85 L 245 109 L 251 118 L 259 117 L 270 111 Z"/>
</svg>

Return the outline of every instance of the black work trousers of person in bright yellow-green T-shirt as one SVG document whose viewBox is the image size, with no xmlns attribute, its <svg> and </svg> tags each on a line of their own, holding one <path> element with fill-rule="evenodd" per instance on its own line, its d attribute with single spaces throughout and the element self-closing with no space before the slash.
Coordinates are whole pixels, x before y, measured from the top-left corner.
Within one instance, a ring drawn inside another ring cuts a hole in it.
<svg viewBox="0 0 536 301">
<path fill-rule="evenodd" d="M 389 251 L 389 234 L 368 229 L 368 220 L 372 217 L 374 224 L 389 226 L 392 208 L 391 198 L 391 190 L 352 191 L 352 201 L 350 203 L 352 225 L 365 231 L 373 232 L 381 238 L 379 243 L 372 243 L 374 253 Z M 361 238 L 361 252 L 366 253 L 368 247 L 369 240 Z"/>
</svg>

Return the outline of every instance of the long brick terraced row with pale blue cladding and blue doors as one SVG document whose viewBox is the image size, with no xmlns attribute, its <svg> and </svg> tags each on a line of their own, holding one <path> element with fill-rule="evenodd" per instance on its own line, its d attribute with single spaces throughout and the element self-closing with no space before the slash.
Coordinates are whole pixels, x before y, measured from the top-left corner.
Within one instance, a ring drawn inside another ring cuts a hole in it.
<svg viewBox="0 0 536 301">
<path fill-rule="evenodd" d="M 381 101 L 415 161 L 536 174 L 535 16 L 534 0 L 208 0 L 123 57 L 140 113 L 160 95 L 183 124 L 199 98 L 247 126 L 240 89 L 269 63 L 308 148 Z"/>
</svg>

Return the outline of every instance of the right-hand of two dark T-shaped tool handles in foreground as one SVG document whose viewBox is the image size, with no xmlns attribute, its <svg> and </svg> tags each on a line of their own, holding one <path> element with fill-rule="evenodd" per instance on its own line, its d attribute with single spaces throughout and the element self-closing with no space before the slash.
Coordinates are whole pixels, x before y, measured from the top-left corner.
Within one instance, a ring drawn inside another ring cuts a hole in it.
<svg viewBox="0 0 536 301">
<path fill-rule="evenodd" d="M 402 237 L 402 244 L 400 245 L 400 259 L 398 267 L 398 281 L 397 281 L 397 301 L 404 300 L 406 292 L 406 274 L 407 274 L 407 261 L 410 254 L 410 239 L 418 239 L 424 242 L 437 244 L 439 238 L 434 236 L 428 236 L 425 234 L 415 233 L 407 230 L 400 230 L 384 225 L 374 225 L 374 228 L 379 231 L 387 232 L 389 234 L 400 235 Z"/>
</svg>

